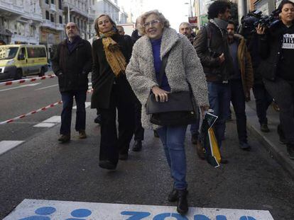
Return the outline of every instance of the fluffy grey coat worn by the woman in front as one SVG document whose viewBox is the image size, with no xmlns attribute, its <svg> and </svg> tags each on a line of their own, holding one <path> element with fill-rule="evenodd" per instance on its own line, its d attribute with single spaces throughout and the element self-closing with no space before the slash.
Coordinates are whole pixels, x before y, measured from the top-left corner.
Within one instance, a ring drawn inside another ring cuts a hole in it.
<svg viewBox="0 0 294 220">
<path fill-rule="evenodd" d="M 164 28 L 160 46 L 160 58 L 170 51 L 165 74 L 171 93 L 189 91 L 187 81 L 198 106 L 209 105 L 205 74 L 191 42 L 184 35 L 172 28 Z M 156 129 L 146 115 L 146 103 L 153 86 L 158 86 L 153 63 L 153 52 L 150 39 L 145 35 L 137 40 L 133 47 L 131 60 L 126 67 L 126 78 L 142 104 L 142 125 L 146 129 Z"/>
</svg>

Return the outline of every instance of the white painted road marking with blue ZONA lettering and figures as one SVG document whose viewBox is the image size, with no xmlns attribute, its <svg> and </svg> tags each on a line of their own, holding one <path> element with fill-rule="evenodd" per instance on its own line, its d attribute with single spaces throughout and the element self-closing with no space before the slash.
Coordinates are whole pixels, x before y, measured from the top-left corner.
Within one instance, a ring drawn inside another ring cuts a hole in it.
<svg viewBox="0 0 294 220">
<path fill-rule="evenodd" d="M 94 202 L 63 202 L 54 200 L 24 199 L 16 209 L 4 220 L 26 219 L 32 217 L 60 219 L 250 219 L 273 220 L 266 210 L 248 209 L 208 209 L 190 208 L 185 218 L 175 211 L 175 207 L 136 205 L 136 204 L 109 204 Z M 206 217 L 206 218 L 205 218 Z"/>
</svg>

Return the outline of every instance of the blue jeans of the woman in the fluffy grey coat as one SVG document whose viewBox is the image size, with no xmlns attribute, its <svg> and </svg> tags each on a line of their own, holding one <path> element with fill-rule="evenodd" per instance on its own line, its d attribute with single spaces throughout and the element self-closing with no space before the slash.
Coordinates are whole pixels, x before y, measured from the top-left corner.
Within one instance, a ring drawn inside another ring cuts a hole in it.
<svg viewBox="0 0 294 220">
<path fill-rule="evenodd" d="M 163 143 L 168 166 L 170 166 L 174 188 L 177 190 L 187 188 L 187 168 L 184 145 L 186 129 L 187 125 L 163 126 L 157 129 L 160 140 Z"/>
</svg>

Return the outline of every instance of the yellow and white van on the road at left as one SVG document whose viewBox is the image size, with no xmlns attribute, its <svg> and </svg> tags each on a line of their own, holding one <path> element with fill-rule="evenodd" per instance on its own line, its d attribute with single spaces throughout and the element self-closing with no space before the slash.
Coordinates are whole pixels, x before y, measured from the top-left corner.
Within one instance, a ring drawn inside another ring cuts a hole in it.
<svg viewBox="0 0 294 220">
<path fill-rule="evenodd" d="M 0 80 L 44 76 L 48 71 L 45 45 L 1 45 Z"/>
</svg>

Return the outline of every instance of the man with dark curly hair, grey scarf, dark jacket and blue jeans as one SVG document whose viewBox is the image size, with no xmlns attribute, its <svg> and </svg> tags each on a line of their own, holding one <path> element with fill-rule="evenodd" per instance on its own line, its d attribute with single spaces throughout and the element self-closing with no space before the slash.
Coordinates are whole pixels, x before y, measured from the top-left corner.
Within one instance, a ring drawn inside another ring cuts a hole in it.
<svg viewBox="0 0 294 220">
<path fill-rule="evenodd" d="M 227 21 L 231 16 L 230 8 L 227 1 L 214 1 L 207 12 L 209 23 L 196 35 L 194 44 L 205 71 L 210 108 L 219 117 L 214 127 L 219 147 L 222 146 L 225 123 L 229 117 L 228 80 L 234 69 L 227 41 Z M 223 159 L 222 162 L 227 161 Z"/>
</svg>

